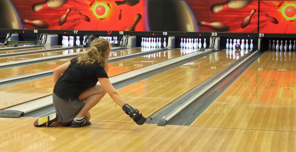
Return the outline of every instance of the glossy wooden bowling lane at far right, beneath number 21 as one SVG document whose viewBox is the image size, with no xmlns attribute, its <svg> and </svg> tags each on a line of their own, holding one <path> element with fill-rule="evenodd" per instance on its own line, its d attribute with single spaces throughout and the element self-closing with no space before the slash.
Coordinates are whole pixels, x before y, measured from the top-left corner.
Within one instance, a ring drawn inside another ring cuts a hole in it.
<svg viewBox="0 0 296 152">
<path fill-rule="evenodd" d="M 191 126 L 295 132 L 295 55 L 264 53 Z"/>
</svg>

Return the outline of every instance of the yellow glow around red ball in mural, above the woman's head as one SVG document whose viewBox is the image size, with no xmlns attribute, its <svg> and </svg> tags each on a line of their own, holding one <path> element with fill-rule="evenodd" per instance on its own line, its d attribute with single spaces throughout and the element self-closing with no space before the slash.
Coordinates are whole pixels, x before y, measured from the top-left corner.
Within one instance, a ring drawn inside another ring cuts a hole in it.
<svg viewBox="0 0 296 152">
<path fill-rule="evenodd" d="M 96 16 L 96 18 L 104 18 L 110 11 L 109 7 L 102 2 L 96 2 L 91 6 L 90 10 L 93 11 L 94 16 Z"/>
</svg>

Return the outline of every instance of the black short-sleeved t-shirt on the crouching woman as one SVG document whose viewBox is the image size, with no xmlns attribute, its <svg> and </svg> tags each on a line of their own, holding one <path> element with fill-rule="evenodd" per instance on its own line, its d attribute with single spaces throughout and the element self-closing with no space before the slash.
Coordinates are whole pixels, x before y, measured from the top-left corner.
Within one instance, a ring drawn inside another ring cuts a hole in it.
<svg viewBox="0 0 296 152">
<path fill-rule="evenodd" d="M 104 68 L 98 63 L 78 64 L 73 58 L 67 70 L 59 77 L 54 86 L 54 94 L 68 101 L 77 100 L 82 92 L 96 86 L 98 78 L 108 78 Z"/>
</svg>

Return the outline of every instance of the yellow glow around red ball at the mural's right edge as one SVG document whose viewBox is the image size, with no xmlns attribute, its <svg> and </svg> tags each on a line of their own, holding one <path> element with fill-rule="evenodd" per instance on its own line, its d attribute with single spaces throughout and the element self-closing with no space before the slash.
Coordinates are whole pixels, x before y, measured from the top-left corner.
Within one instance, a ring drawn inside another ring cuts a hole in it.
<svg viewBox="0 0 296 152">
<path fill-rule="evenodd" d="M 283 16 L 287 20 L 296 19 L 296 4 L 295 3 L 289 3 L 289 1 L 285 1 L 284 6 L 282 6 L 279 9 L 279 11 L 282 12 Z"/>
</svg>

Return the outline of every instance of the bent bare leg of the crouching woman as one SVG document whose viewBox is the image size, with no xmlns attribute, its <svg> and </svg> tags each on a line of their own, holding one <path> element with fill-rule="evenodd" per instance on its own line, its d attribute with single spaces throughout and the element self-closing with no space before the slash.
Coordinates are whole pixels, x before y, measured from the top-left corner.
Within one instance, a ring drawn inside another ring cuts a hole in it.
<svg viewBox="0 0 296 152">
<path fill-rule="evenodd" d="M 105 96 L 105 94 L 106 91 L 99 84 L 97 84 L 93 88 L 89 88 L 86 91 L 84 91 L 78 99 L 80 99 L 81 101 L 85 100 L 85 104 L 75 118 L 87 116 L 89 120 L 91 117 L 89 114 L 89 110 L 96 104 L 98 104 L 99 101 Z"/>
</svg>

